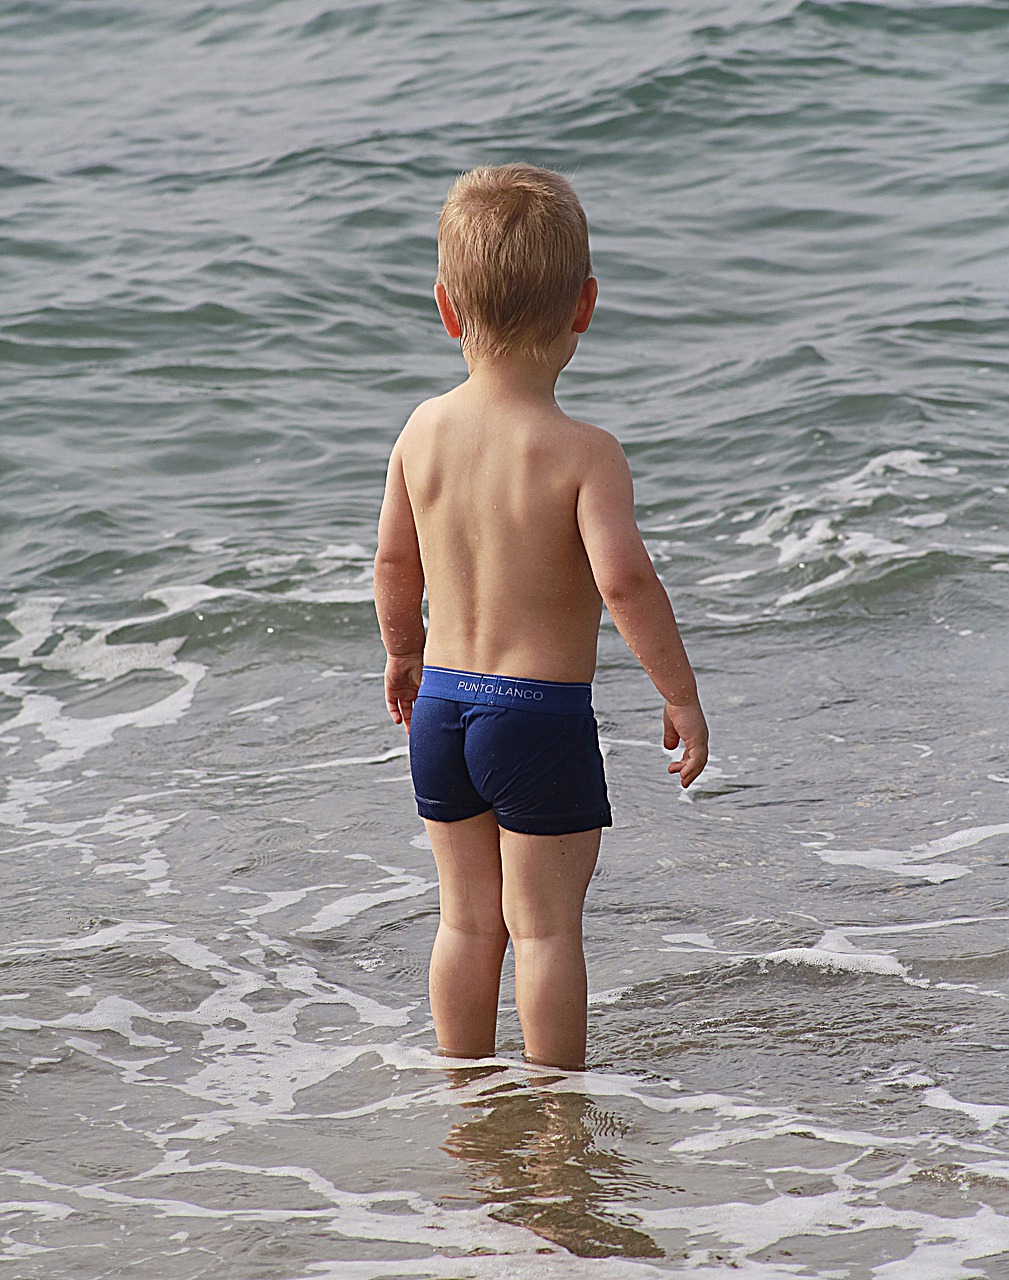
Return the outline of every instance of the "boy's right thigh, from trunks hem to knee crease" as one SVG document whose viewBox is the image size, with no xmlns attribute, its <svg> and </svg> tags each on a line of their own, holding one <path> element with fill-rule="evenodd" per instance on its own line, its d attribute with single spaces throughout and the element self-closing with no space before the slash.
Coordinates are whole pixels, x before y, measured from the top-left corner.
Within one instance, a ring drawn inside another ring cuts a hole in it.
<svg viewBox="0 0 1009 1280">
<path fill-rule="evenodd" d="M 602 829 L 530 836 L 501 828 L 501 901 L 513 938 L 577 933 Z"/>
</svg>

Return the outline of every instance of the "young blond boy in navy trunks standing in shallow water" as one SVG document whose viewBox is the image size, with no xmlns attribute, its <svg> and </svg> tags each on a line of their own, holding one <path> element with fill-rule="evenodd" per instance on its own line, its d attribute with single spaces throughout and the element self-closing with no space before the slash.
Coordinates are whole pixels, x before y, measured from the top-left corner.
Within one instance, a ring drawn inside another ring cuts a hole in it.
<svg viewBox="0 0 1009 1280">
<path fill-rule="evenodd" d="M 612 824 L 590 701 L 603 603 L 665 700 L 665 745 L 684 744 L 670 773 L 686 787 L 707 762 L 624 452 L 553 398 L 595 293 L 563 178 L 525 164 L 458 178 L 434 294 L 469 378 L 403 428 L 375 557 L 385 701 L 438 865 L 430 1000 L 451 1057 L 493 1055 L 511 938 L 526 1059 L 584 1066 L 581 908 Z"/>
</svg>

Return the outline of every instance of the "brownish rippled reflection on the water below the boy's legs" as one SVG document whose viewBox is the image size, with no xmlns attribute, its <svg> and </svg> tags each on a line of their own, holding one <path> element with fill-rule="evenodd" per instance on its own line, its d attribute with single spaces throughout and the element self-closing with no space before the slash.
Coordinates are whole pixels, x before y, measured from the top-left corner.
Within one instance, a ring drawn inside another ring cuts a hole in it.
<svg viewBox="0 0 1009 1280">
<path fill-rule="evenodd" d="M 453 1083 L 472 1084 L 497 1070 L 453 1071 Z M 649 1235 L 621 1222 L 609 1207 L 638 1179 L 629 1174 L 633 1162 L 597 1147 L 593 1133 L 618 1137 L 625 1125 L 581 1093 L 554 1093 L 551 1085 L 561 1079 L 508 1082 L 464 1102 L 479 1114 L 452 1125 L 443 1149 L 479 1170 L 474 1190 L 502 1222 L 529 1228 L 585 1258 L 665 1257 Z"/>
</svg>

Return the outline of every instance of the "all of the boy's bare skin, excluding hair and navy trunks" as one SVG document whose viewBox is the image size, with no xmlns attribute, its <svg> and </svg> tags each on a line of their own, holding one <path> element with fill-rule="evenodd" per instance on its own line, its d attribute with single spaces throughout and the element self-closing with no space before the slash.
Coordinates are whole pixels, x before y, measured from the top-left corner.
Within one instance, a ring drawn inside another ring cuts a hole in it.
<svg viewBox="0 0 1009 1280">
<path fill-rule="evenodd" d="M 663 742 L 684 748 L 668 769 L 688 787 L 707 762 L 708 731 L 668 596 L 638 530 L 626 458 L 608 431 L 569 417 L 554 398 L 595 300 L 589 276 L 552 339 L 531 352 L 502 352 L 467 342 L 446 285 L 435 285 L 446 332 L 462 339 L 469 378 L 412 413 L 389 460 L 375 557 L 385 700 L 408 732 L 425 663 L 590 682 L 606 604 L 663 700 Z M 430 964 L 440 1051 L 494 1052 L 511 940 L 528 1060 L 581 1069 L 581 911 L 601 828 L 526 835 L 499 826 L 493 812 L 425 826 L 440 891 Z"/>
</svg>

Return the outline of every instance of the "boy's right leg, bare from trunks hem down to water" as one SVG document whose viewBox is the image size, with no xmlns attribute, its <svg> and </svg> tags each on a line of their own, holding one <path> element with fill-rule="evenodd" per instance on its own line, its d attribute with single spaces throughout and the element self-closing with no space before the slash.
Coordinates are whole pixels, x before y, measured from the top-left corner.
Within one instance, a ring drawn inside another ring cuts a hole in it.
<svg viewBox="0 0 1009 1280">
<path fill-rule="evenodd" d="M 526 1057 L 585 1065 L 586 980 L 581 906 L 602 832 L 501 831 L 502 905 L 515 947 L 515 1002 Z"/>
</svg>

